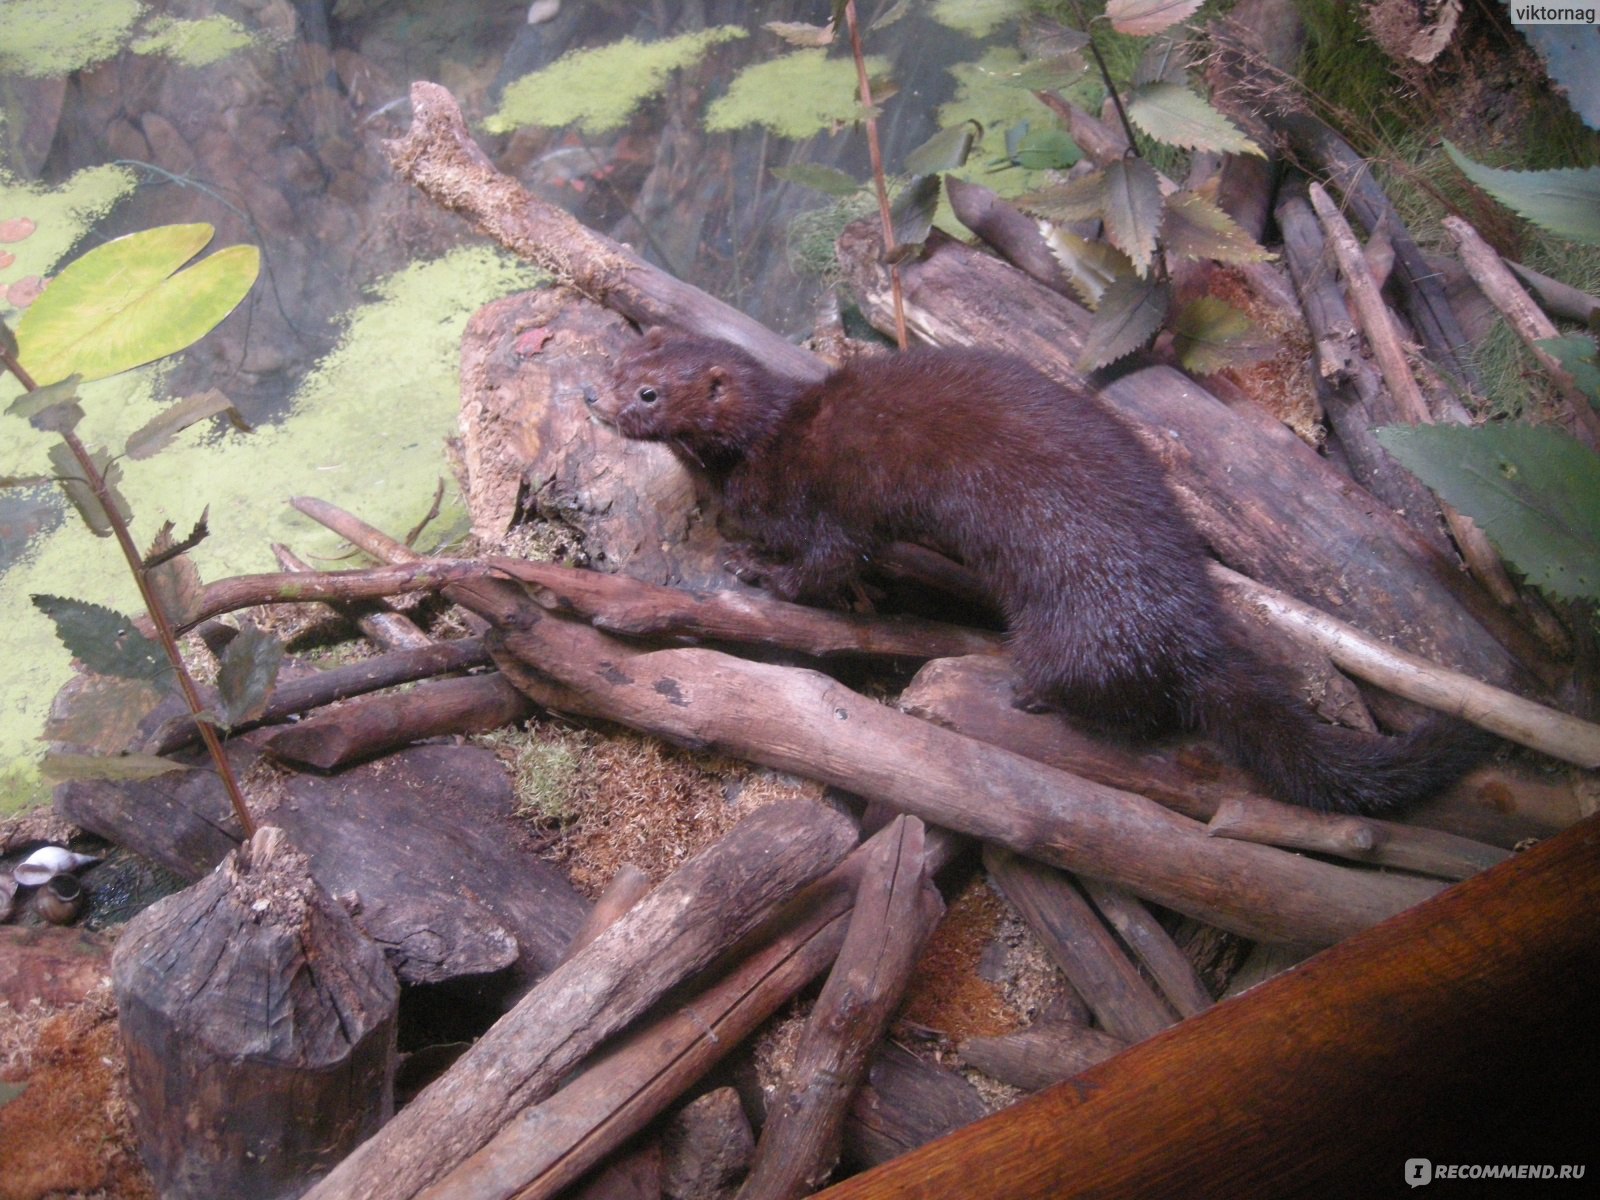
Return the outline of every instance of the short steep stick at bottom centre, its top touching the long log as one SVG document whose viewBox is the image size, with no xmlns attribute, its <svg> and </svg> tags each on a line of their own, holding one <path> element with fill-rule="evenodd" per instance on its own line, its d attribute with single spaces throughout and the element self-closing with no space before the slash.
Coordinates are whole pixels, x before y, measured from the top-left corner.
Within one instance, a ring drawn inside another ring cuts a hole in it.
<svg viewBox="0 0 1600 1200">
<path fill-rule="evenodd" d="M 798 1200 L 838 1163 L 850 1099 L 944 912 L 928 877 L 923 824 L 896 818 L 864 867 L 838 960 L 806 1018 L 794 1066 L 766 1109 L 739 1200 Z"/>
</svg>

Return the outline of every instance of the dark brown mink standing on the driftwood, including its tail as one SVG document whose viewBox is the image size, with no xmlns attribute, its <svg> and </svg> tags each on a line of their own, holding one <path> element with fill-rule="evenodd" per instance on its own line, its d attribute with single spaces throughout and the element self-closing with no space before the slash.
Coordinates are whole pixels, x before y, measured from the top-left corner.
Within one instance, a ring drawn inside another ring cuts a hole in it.
<svg viewBox="0 0 1600 1200">
<path fill-rule="evenodd" d="M 1429 795 L 1486 749 L 1448 718 L 1403 738 L 1317 720 L 1232 627 L 1160 464 L 1014 357 L 910 350 L 808 384 L 656 330 L 590 403 L 709 478 L 779 597 L 832 597 L 899 539 L 963 562 L 1005 614 L 1029 707 L 1198 730 L 1267 794 L 1342 813 Z"/>
</svg>

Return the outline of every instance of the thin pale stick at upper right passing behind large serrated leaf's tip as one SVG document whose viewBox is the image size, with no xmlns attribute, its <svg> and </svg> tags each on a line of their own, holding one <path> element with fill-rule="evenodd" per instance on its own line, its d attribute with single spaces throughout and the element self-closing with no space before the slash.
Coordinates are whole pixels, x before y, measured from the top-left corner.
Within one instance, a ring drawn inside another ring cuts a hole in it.
<svg viewBox="0 0 1600 1200">
<path fill-rule="evenodd" d="M 1320 184 L 1310 186 L 1310 206 L 1317 211 L 1317 218 L 1328 234 L 1328 245 L 1333 248 L 1333 256 L 1339 262 L 1339 274 L 1344 275 L 1344 286 L 1350 294 L 1350 307 L 1355 310 L 1355 318 L 1366 333 L 1366 342 L 1373 347 L 1373 358 L 1378 360 L 1378 370 L 1382 371 L 1389 394 L 1395 398 L 1395 403 L 1410 424 L 1432 424 L 1434 416 L 1429 411 L 1427 400 L 1422 397 L 1422 389 L 1418 387 L 1416 376 L 1411 374 L 1411 365 L 1406 362 L 1405 350 L 1400 346 L 1394 314 L 1389 312 L 1389 306 L 1384 304 L 1378 291 L 1378 282 L 1366 266 L 1366 258 L 1362 254 L 1362 246 L 1355 240 L 1354 230 L 1339 210 L 1334 208 Z M 1490 546 L 1488 538 L 1483 536 L 1483 530 L 1448 504 L 1440 502 L 1440 509 L 1445 514 L 1445 522 L 1450 525 L 1450 533 L 1456 539 L 1456 546 L 1461 549 L 1462 558 L 1472 568 L 1472 574 L 1490 589 L 1496 600 L 1507 608 L 1514 608 L 1518 603 L 1517 586 L 1510 581 L 1504 563 L 1501 563 L 1494 547 Z"/>
</svg>

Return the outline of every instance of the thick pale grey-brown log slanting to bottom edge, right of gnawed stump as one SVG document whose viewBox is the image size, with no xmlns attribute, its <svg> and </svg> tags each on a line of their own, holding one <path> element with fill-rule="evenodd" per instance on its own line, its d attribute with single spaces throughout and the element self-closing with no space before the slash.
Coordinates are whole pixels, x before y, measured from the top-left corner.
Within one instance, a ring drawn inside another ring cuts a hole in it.
<svg viewBox="0 0 1600 1200">
<path fill-rule="evenodd" d="M 427 1189 L 662 992 L 760 925 L 854 842 L 818 805 L 778 803 L 678 867 L 558 966 L 309 1195 L 403 1200 Z"/>
</svg>

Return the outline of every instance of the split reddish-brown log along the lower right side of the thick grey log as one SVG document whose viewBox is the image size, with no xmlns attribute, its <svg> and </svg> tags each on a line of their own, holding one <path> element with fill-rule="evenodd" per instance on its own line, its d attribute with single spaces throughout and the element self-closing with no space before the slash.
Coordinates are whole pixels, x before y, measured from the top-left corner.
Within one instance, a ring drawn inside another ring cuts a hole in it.
<svg viewBox="0 0 1600 1200">
<path fill-rule="evenodd" d="M 589 1062 L 418 1200 L 549 1200 L 579 1179 L 834 962 L 864 864 L 885 840 L 851 851 L 784 909 L 771 941 Z M 957 851 L 938 830 L 928 843 L 934 870 Z"/>
</svg>

